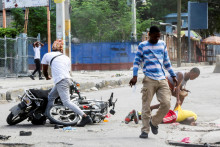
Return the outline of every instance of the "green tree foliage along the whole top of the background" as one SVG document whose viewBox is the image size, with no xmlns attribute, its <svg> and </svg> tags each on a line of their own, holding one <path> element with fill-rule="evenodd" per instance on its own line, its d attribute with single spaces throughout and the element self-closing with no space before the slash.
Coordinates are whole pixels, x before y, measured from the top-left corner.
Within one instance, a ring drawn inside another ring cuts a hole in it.
<svg viewBox="0 0 220 147">
<path fill-rule="evenodd" d="M 192 0 L 193 1 L 193 0 Z M 199 1 L 199 0 L 198 0 Z M 209 4 L 209 29 L 202 30 L 205 36 L 220 32 L 220 3 L 219 0 L 201 0 Z M 151 26 L 152 21 L 164 22 L 164 17 L 170 13 L 177 13 L 177 1 L 147 0 L 142 5 L 136 0 L 137 7 L 137 35 Z M 182 13 L 187 12 L 188 1 L 182 1 Z M 123 41 L 130 40 L 132 30 L 131 6 L 127 0 L 71 0 L 71 34 L 81 41 Z M 52 3 L 51 37 L 56 39 L 56 6 Z M 36 37 L 41 34 L 43 41 L 47 40 L 47 10 L 45 7 L 30 8 L 28 36 Z M 12 9 L 15 22 L 13 26 L 23 32 L 24 11 Z M 139 39 L 140 40 L 140 39 Z"/>
</svg>

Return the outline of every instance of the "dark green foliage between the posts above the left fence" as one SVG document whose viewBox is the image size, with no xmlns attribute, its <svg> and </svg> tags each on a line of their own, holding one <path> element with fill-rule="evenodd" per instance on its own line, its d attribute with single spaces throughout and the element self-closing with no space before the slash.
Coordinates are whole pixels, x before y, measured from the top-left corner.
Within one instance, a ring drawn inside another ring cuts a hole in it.
<svg viewBox="0 0 220 147">
<path fill-rule="evenodd" d="M 14 17 L 12 26 L 17 28 L 19 33 L 24 31 L 24 11 L 20 8 L 11 9 Z M 52 3 L 51 10 L 51 38 L 52 41 L 56 39 L 56 11 L 55 4 Z M 42 41 L 47 41 L 47 8 L 36 7 L 29 8 L 28 16 L 28 31 L 27 35 L 31 37 L 37 37 L 38 33 L 41 34 Z"/>
</svg>

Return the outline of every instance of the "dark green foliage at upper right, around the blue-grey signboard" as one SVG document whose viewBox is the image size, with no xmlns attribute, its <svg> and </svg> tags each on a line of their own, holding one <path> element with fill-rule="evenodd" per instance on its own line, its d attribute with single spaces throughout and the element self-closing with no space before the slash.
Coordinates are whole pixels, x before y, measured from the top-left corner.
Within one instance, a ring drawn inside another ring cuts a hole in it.
<svg viewBox="0 0 220 147">
<path fill-rule="evenodd" d="M 195 2 L 208 2 L 208 29 L 200 30 L 201 36 L 206 37 L 213 33 L 220 33 L 220 2 L 219 0 L 191 0 Z M 151 6 L 144 11 L 138 10 L 141 20 L 165 20 L 170 13 L 177 13 L 177 1 L 174 0 L 150 0 Z M 188 1 L 181 1 L 181 12 L 187 13 Z M 144 15 L 143 15 L 144 14 Z"/>
</svg>

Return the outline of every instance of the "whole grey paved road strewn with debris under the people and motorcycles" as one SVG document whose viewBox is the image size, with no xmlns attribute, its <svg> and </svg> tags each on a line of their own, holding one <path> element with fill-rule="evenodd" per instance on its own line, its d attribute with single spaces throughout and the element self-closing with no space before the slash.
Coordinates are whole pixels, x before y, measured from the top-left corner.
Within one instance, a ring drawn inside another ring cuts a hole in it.
<svg viewBox="0 0 220 147">
<path fill-rule="evenodd" d="M 198 115 L 197 126 L 161 124 L 159 134 L 149 134 L 148 139 L 139 139 L 141 123 L 124 124 L 124 117 L 132 109 L 141 110 L 141 85 L 136 90 L 128 86 L 87 92 L 85 95 L 91 99 L 107 100 L 114 92 L 118 98 L 116 114 L 103 122 L 86 126 L 75 127 L 73 131 L 54 130 L 53 125 L 33 126 L 24 121 L 16 126 L 8 126 L 6 117 L 11 106 L 15 103 L 1 104 L 0 107 L 0 135 L 10 135 L 6 141 L 0 140 L 0 146 L 5 143 L 26 143 L 35 146 L 151 146 L 164 147 L 167 140 L 180 141 L 190 137 L 191 143 L 220 142 L 220 74 L 212 73 L 213 67 L 202 67 L 201 75 L 195 81 L 189 81 L 187 89 L 191 91 L 183 104 L 183 109 L 194 111 Z M 156 98 L 152 104 L 156 104 Z M 172 107 L 175 98 L 172 98 Z M 154 113 L 154 112 L 153 112 Z M 32 131 L 32 136 L 21 137 L 19 131 Z"/>
</svg>

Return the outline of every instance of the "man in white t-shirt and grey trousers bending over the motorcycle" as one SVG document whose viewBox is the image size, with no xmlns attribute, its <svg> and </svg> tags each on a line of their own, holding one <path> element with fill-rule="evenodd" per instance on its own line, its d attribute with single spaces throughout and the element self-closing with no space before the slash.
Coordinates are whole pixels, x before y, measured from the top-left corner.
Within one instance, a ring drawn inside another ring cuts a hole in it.
<svg viewBox="0 0 220 147">
<path fill-rule="evenodd" d="M 77 105 L 70 101 L 69 91 L 72 82 L 70 76 L 71 62 L 70 58 L 62 54 L 62 52 L 63 41 L 57 40 L 53 43 L 52 52 L 46 53 L 41 61 L 41 64 L 43 65 L 43 74 L 46 80 L 51 79 L 51 77 L 48 75 L 48 66 L 50 66 L 55 84 L 48 95 L 48 104 L 45 114 L 47 115 L 49 113 L 50 108 L 54 104 L 54 100 L 60 96 L 65 107 L 70 108 L 72 111 L 82 117 L 81 122 L 77 126 L 84 127 L 86 124 L 92 123 L 92 119 Z"/>
</svg>

